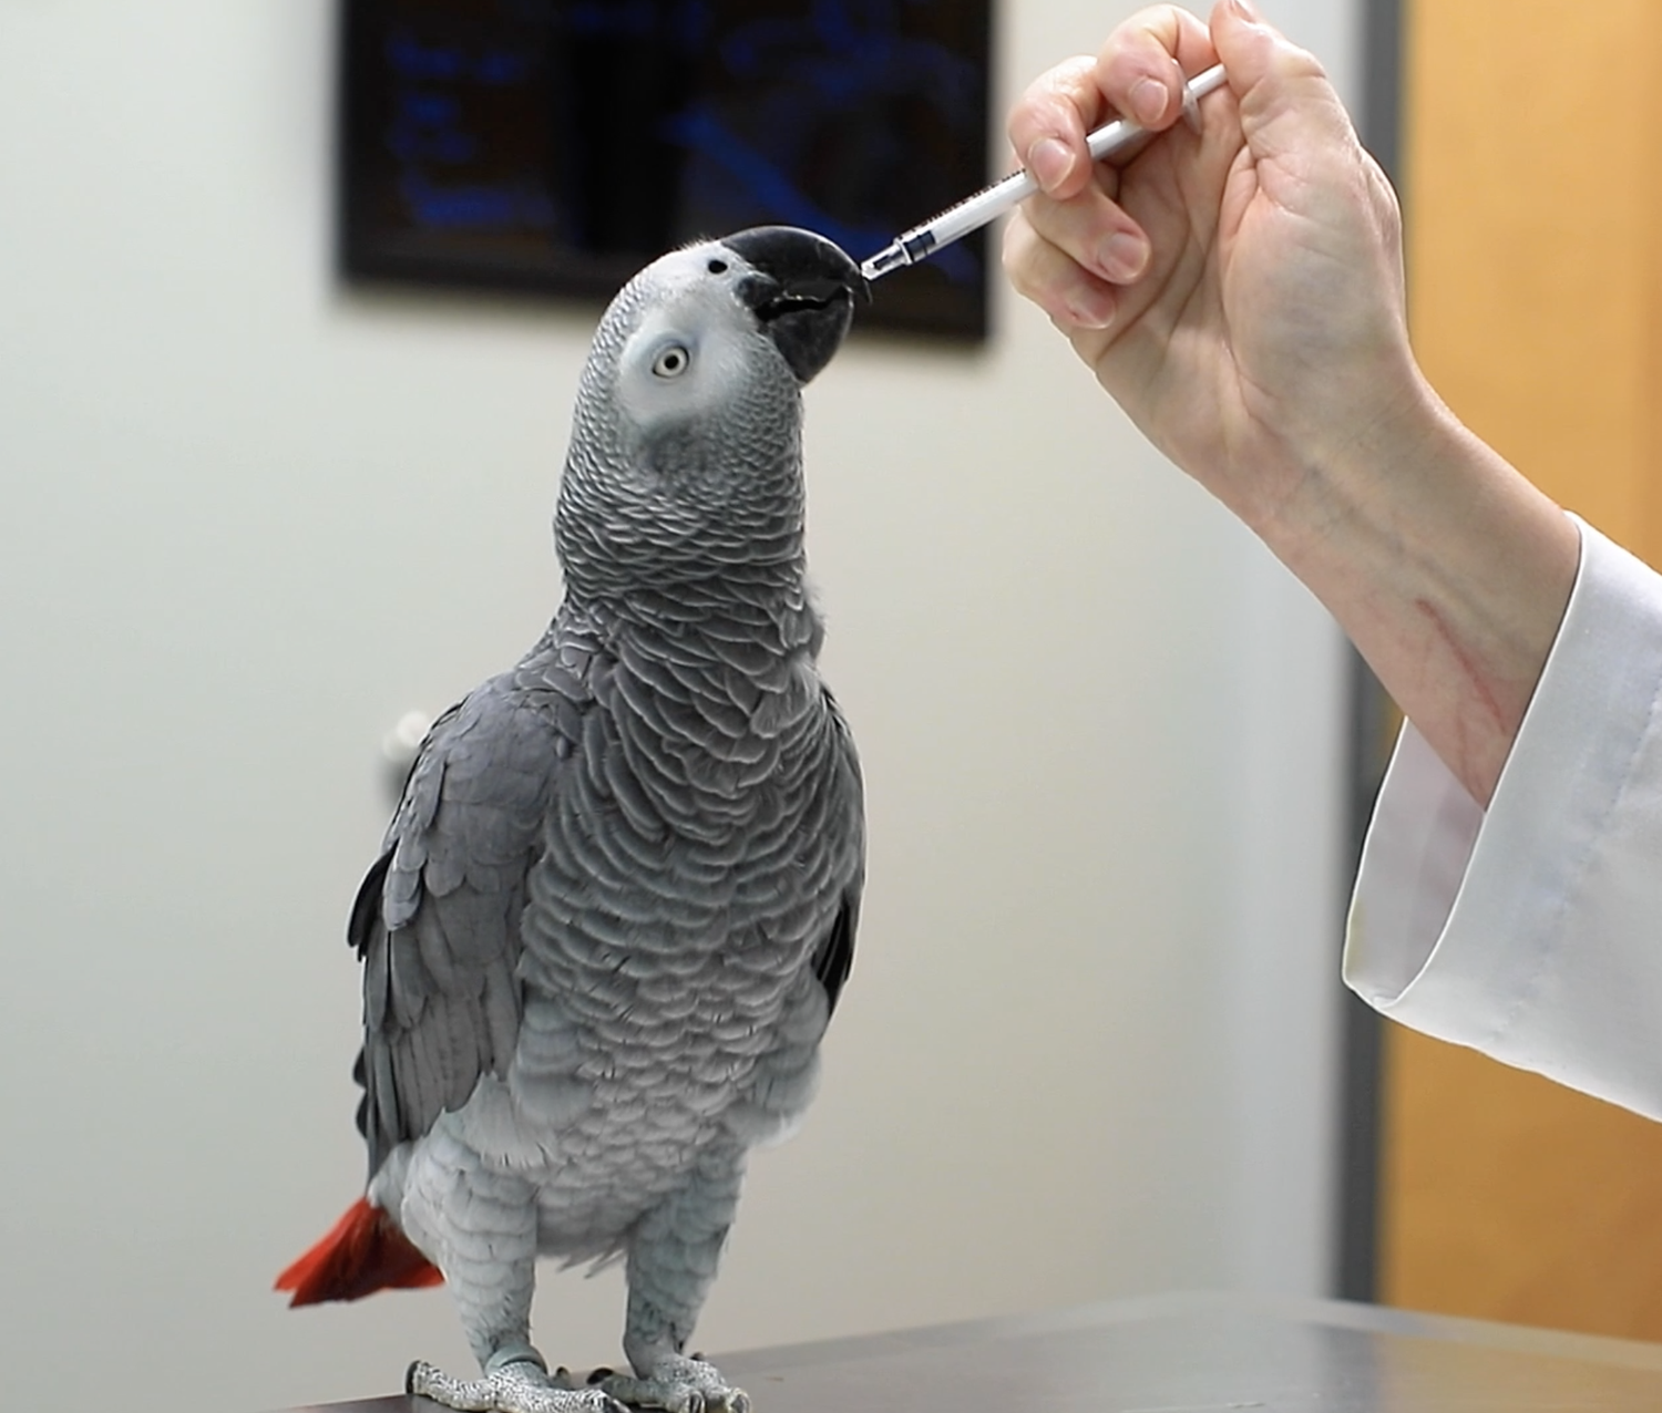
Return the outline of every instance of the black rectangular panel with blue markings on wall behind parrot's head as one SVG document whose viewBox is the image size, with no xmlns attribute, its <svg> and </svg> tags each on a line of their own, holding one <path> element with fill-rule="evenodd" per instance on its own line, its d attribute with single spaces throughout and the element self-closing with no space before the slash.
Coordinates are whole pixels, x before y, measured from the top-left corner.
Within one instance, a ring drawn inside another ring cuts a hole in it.
<svg viewBox="0 0 1662 1413">
<path fill-rule="evenodd" d="M 341 0 L 351 281 L 610 297 L 745 226 L 864 259 L 987 181 L 991 0 Z M 976 340 L 987 241 L 861 324 Z"/>
</svg>

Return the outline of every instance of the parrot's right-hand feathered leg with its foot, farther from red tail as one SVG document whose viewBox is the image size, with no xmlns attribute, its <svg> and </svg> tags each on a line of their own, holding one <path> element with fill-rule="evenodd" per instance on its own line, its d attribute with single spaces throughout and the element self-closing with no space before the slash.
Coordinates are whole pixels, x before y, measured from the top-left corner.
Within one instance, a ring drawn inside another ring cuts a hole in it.
<svg viewBox="0 0 1662 1413">
<path fill-rule="evenodd" d="M 715 1365 L 683 1353 L 715 1282 L 743 1177 L 745 1149 L 706 1152 L 691 1181 L 635 1229 L 623 1325 L 623 1353 L 635 1376 L 602 1380 L 613 1398 L 666 1413 L 750 1413 L 745 1390 L 730 1386 Z"/>
</svg>

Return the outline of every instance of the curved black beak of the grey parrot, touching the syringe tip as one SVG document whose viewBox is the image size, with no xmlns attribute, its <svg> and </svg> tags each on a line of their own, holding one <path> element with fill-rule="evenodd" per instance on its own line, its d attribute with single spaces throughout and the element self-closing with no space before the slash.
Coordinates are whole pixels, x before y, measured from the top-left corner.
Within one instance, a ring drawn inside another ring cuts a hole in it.
<svg viewBox="0 0 1662 1413">
<path fill-rule="evenodd" d="M 854 296 L 871 297 L 843 249 L 794 226 L 756 226 L 721 241 L 756 274 L 740 296 L 761 320 L 799 384 L 808 384 L 843 345 Z"/>
</svg>

